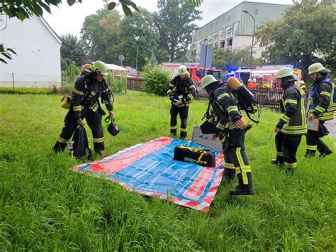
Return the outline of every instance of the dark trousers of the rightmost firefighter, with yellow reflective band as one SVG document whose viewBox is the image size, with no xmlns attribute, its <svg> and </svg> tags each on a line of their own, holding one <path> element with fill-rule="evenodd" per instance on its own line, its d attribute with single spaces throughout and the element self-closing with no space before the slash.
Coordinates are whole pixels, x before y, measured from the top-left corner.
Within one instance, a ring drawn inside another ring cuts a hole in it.
<svg viewBox="0 0 336 252">
<path fill-rule="evenodd" d="M 321 156 L 329 155 L 332 153 L 330 148 L 327 147 L 325 143 L 321 140 L 323 136 L 326 136 L 327 128 L 324 126 L 325 121 L 320 121 L 320 128 L 318 131 L 307 131 L 306 138 L 306 156 L 314 156 L 316 150 Z"/>
</svg>

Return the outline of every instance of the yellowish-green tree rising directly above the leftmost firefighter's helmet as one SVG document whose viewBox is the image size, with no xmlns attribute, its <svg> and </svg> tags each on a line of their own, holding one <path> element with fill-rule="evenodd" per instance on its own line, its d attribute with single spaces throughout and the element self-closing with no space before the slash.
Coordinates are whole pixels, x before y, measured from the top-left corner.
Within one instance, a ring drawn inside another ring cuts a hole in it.
<svg viewBox="0 0 336 252">
<path fill-rule="evenodd" d="M 118 62 L 121 52 L 120 41 L 121 16 L 118 11 L 100 9 L 96 14 L 86 16 L 81 37 L 90 60 Z"/>
</svg>

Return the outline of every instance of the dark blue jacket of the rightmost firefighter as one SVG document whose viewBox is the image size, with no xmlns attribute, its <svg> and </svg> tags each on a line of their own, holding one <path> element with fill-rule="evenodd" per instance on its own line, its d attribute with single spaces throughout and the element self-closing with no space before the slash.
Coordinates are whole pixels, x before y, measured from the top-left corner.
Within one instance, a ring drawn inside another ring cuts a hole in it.
<svg viewBox="0 0 336 252">
<path fill-rule="evenodd" d="M 334 117 L 332 105 L 332 81 L 328 77 L 315 80 L 310 91 L 308 114 L 327 121 Z"/>
</svg>

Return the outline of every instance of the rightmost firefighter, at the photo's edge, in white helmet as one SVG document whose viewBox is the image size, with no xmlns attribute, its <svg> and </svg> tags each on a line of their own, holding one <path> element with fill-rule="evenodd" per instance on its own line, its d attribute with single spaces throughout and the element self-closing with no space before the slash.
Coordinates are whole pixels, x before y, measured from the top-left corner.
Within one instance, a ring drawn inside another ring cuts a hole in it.
<svg viewBox="0 0 336 252">
<path fill-rule="evenodd" d="M 333 119 L 333 111 L 330 109 L 332 80 L 327 77 L 328 73 L 330 70 L 325 69 L 321 63 L 315 63 L 308 67 L 308 75 L 313 79 L 313 87 L 309 96 L 308 120 L 319 119 L 320 127 L 318 131 L 308 130 L 306 157 L 314 156 L 316 150 L 320 152 L 321 158 L 332 153 L 330 148 L 320 139 L 328 133 L 324 126 L 325 121 Z"/>
</svg>

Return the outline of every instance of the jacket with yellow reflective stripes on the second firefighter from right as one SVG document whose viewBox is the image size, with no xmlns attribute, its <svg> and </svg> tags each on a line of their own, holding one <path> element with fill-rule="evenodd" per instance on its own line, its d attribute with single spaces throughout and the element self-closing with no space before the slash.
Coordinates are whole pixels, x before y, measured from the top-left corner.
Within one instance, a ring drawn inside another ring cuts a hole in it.
<svg viewBox="0 0 336 252">
<path fill-rule="evenodd" d="M 303 135 L 307 133 L 305 92 L 294 82 L 284 89 L 280 110 L 282 112 L 276 128 L 286 135 Z"/>
</svg>

